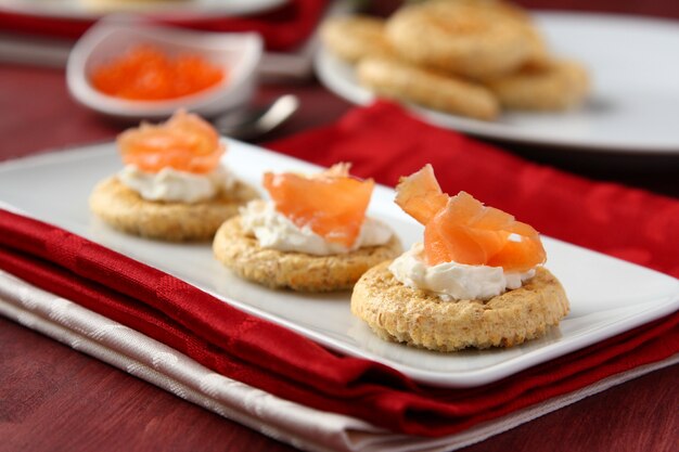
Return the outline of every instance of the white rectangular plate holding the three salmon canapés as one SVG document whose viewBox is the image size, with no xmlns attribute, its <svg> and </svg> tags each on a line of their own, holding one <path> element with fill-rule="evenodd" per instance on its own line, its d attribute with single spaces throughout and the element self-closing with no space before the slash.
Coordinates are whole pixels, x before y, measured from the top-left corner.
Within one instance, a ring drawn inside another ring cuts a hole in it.
<svg viewBox="0 0 679 452">
<path fill-rule="evenodd" d="M 317 167 L 241 142 L 229 141 L 226 164 L 259 185 L 266 170 Z M 561 280 L 572 310 L 540 339 L 510 349 L 437 353 L 379 339 L 349 311 L 349 293 L 272 290 L 240 280 L 213 258 L 209 244 L 168 244 L 118 233 L 88 209 L 93 185 L 121 164 L 113 143 L 43 154 L 0 165 L 0 207 L 37 219 L 174 274 L 244 311 L 268 319 L 344 353 L 364 357 L 437 386 L 473 387 L 598 343 L 679 308 L 679 281 L 599 253 L 545 237 L 548 268 Z M 422 227 L 375 189 L 369 215 L 392 224 L 406 247 Z"/>
</svg>

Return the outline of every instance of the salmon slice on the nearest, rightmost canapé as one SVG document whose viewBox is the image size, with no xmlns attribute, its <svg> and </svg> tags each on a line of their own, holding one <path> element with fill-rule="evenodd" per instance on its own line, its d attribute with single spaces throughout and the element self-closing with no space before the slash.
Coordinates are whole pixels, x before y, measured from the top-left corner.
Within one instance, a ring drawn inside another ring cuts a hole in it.
<svg viewBox="0 0 679 452">
<path fill-rule="evenodd" d="M 396 204 L 424 225 L 424 254 L 431 266 L 454 261 L 525 272 L 546 260 L 533 227 L 466 192 L 448 196 L 431 165 L 402 178 L 396 193 Z"/>
</svg>

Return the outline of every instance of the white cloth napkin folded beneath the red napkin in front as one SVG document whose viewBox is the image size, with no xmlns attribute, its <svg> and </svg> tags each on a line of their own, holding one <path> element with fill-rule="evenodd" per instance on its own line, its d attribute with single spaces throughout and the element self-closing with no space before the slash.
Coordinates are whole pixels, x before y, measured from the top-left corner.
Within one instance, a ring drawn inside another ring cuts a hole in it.
<svg viewBox="0 0 679 452">
<path fill-rule="evenodd" d="M 461 434 L 423 438 L 318 411 L 227 378 L 134 330 L 1 270 L 0 314 L 223 417 L 308 451 L 452 451 L 679 362 L 679 354 L 675 354 Z"/>
</svg>

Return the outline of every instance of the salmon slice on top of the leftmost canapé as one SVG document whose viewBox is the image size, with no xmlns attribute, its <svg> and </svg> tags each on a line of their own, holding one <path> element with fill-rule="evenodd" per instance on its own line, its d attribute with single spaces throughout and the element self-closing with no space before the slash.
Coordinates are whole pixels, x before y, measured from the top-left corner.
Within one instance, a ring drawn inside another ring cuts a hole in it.
<svg viewBox="0 0 679 452">
<path fill-rule="evenodd" d="M 118 148 L 126 165 L 145 172 L 170 167 L 178 171 L 213 171 L 226 148 L 217 131 L 197 115 L 178 111 L 166 122 L 142 122 L 118 135 Z"/>
</svg>

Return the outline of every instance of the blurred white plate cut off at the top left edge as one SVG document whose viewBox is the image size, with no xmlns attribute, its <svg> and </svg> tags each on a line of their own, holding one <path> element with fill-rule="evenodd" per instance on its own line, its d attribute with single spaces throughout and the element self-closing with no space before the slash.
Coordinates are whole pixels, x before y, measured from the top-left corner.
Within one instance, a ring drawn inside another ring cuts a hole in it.
<svg viewBox="0 0 679 452">
<path fill-rule="evenodd" d="M 97 20 L 108 13 L 146 13 L 181 18 L 257 14 L 287 0 L 0 0 L 0 8 L 36 16 Z"/>
</svg>

